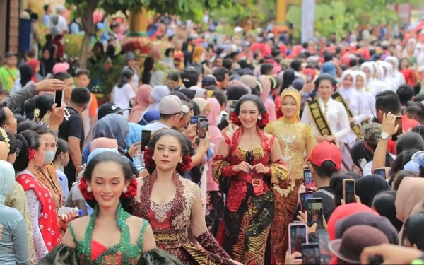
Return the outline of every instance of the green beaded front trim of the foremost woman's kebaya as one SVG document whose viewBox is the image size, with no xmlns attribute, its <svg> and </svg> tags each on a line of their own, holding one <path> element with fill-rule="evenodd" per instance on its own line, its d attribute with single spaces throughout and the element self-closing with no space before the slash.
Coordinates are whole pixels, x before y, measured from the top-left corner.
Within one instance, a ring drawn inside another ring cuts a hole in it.
<svg viewBox="0 0 424 265">
<path fill-rule="evenodd" d="M 84 264 L 130 264 L 131 257 L 129 256 L 130 249 L 130 235 L 129 227 L 126 225 L 125 220 L 129 218 L 129 213 L 124 211 L 122 205 L 119 203 L 117 211 L 117 225 L 121 231 L 121 240 L 118 244 L 108 247 L 105 252 L 100 254 L 94 261 L 91 261 L 91 244 L 93 239 L 93 230 L 95 220 L 98 215 L 98 206 L 95 206 L 93 214 L 90 217 L 90 223 L 86 228 L 83 244 L 78 252 L 83 254 L 85 259 Z"/>
</svg>

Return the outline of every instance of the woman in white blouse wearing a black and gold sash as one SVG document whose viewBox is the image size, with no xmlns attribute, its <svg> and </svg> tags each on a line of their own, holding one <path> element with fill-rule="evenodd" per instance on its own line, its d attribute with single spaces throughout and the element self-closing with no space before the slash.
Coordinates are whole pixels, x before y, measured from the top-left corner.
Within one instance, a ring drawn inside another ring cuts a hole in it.
<svg viewBox="0 0 424 265">
<path fill-rule="evenodd" d="M 343 104 L 331 98 L 336 80 L 332 76 L 322 74 L 315 81 L 315 86 L 319 97 L 307 102 L 300 122 L 312 126 L 318 143 L 334 142 L 340 147 L 343 137 L 351 131 L 351 126 Z"/>
</svg>

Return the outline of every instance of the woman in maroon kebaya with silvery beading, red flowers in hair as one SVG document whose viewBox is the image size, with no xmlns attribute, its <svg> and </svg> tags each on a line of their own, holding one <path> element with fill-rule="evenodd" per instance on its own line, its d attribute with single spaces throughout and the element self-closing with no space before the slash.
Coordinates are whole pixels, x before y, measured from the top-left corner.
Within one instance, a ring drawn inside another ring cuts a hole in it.
<svg viewBox="0 0 424 265">
<path fill-rule="evenodd" d="M 134 215 L 146 218 L 156 243 L 183 264 L 233 264 L 208 232 L 199 186 L 181 177 L 191 158 L 186 138 L 172 129 L 153 134 L 144 153 L 151 175 L 137 179 Z M 187 230 L 204 247 L 193 245 Z"/>
</svg>

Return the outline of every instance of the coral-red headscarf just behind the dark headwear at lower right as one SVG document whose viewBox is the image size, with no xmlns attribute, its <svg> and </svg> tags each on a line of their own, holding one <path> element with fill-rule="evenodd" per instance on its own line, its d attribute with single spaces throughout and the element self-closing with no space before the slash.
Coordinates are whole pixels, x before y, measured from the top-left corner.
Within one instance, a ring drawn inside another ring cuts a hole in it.
<svg viewBox="0 0 424 265">
<path fill-rule="evenodd" d="M 334 212 L 331 213 L 330 219 L 327 222 L 330 240 L 336 239 L 337 221 L 341 218 L 351 216 L 354 213 L 375 213 L 377 216 L 379 215 L 376 211 L 372 210 L 372 208 L 366 206 L 365 204 L 353 203 L 338 206 L 336 209 L 334 209 Z"/>
</svg>

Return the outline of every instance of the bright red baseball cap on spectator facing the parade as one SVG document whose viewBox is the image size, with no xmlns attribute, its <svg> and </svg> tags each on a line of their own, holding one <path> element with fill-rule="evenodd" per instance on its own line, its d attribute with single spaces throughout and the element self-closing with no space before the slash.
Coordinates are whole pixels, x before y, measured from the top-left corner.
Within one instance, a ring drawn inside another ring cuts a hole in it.
<svg viewBox="0 0 424 265">
<path fill-rule="evenodd" d="M 314 147 L 308 161 L 317 167 L 321 167 L 324 161 L 333 162 L 336 170 L 341 168 L 341 151 L 334 143 L 322 142 Z"/>
</svg>

